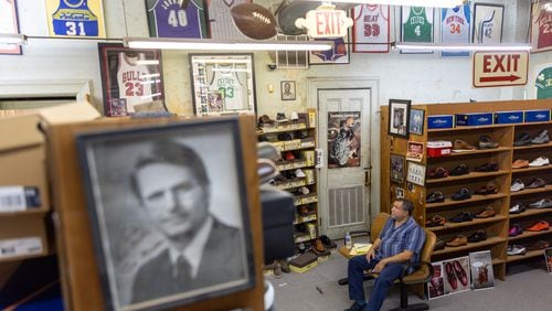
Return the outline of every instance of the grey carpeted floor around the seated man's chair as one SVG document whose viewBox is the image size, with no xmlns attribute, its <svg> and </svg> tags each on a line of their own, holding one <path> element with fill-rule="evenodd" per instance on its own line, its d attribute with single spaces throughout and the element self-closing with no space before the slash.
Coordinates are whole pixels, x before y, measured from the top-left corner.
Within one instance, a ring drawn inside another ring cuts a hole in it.
<svg viewBox="0 0 552 311">
<path fill-rule="evenodd" d="M 552 310 L 552 275 L 544 269 L 543 260 L 511 266 L 507 281 L 496 281 L 496 287 L 481 291 L 466 291 L 428 301 L 431 310 Z M 280 278 L 265 277 L 275 289 L 275 311 L 343 310 L 352 303 L 347 286 L 338 280 L 347 274 L 347 259 L 333 251 L 327 261 L 302 275 L 284 274 Z M 367 297 L 373 281 L 364 282 Z M 317 289 L 320 289 L 320 291 Z M 410 294 L 410 302 L 421 300 Z M 399 305 L 399 287 L 383 303 L 382 310 Z"/>
</svg>

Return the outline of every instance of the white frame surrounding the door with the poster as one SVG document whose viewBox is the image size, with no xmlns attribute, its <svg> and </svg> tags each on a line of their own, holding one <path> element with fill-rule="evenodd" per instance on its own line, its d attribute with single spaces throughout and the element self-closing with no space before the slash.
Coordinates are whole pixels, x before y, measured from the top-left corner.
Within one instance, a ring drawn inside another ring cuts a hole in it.
<svg viewBox="0 0 552 311">
<path fill-rule="evenodd" d="M 376 77 L 350 77 L 350 76 L 328 76 L 307 77 L 307 107 L 318 111 L 318 90 L 339 88 L 370 88 L 370 140 L 369 152 L 372 160 L 371 185 L 370 185 L 370 219 L 373 219 L 381 211 L 380 206 L 380 81 Z M 318 116 L 318 120 L 320 116 Z M 317 128 L 318 126 L 317 120 Z M 319 142 L 320 143 L 320 142 Z M 317 184 L 317 192 L 320 193 L 320 184 Z"/>
</svg>

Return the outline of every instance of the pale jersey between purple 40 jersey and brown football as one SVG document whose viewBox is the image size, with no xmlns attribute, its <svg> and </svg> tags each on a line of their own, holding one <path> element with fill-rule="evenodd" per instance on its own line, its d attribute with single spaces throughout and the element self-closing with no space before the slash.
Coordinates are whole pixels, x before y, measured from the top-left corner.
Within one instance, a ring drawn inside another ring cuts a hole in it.
<svg viewBox="0 0 552 311">
<path fill-rule="evenodd" d="M 248 3 L 248 0 L 211 0 L 209 7 L 209 25 L 211 39 L 250 40 L 234 24 L 232 7 Z"/>
</svg>

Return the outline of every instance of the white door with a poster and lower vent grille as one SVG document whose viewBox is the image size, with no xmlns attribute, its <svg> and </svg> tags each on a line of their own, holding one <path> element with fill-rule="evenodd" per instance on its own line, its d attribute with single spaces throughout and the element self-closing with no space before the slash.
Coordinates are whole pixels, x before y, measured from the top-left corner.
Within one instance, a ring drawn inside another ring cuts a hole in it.
<svg viewBox="0 0 552 311">
<path fill-rule="evenodd" d="M 370 222 L 370 88 L 318 89 L 321 234 L 342 238 Z"/>
</svg>

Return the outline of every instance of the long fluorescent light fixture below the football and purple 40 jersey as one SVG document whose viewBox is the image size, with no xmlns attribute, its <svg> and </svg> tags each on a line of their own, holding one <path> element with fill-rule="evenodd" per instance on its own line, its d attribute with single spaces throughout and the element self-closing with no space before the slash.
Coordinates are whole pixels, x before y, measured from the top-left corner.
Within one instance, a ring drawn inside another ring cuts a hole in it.
<svg viewBox="0 0 552 311">
<path fill-rule="evenodd" d="M 198 51 L 327 51 L 333 43 L 323 41 L 222 41 L 211 39 L 125 37 L 130 49 Z"/>
</svg>

